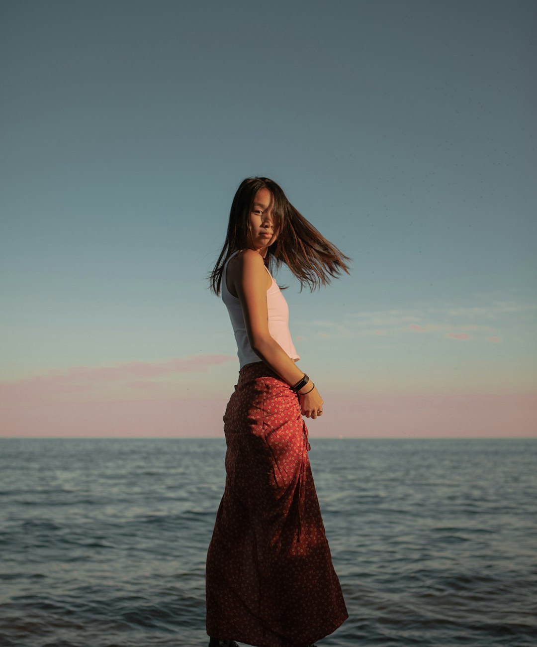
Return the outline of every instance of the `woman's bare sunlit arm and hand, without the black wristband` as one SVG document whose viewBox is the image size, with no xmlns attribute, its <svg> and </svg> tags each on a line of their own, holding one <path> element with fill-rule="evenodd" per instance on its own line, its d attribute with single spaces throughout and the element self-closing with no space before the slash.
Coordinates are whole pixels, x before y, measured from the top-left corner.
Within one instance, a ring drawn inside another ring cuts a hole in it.
<svg viewBox="0 0 537 647">
<path fill-rule="evenodd" d="M 263 259 L 254 250 L 245 250 L 238 254 L 233 261 L 231 280 L 237 291 L 246 332 L 250 345 L 256 355 L 275 371 L 288 384 L 297 384 L 304 375 L 299 367 L 291 360 L 290 356 L 282 349 L 269 333 L 267 310 L 267 283 L 268 273 L 264 267 Z M 223 278 L 226 280 L 226 277 Z M 300 391 L 300 408 L 302 414 L 310 417 L 317 416 L 317 411 L 322 410 L 322 398 L 313 382 L 308 382 Z M 309 393 L 308 393 L 309 391 Z"/>
</svg>

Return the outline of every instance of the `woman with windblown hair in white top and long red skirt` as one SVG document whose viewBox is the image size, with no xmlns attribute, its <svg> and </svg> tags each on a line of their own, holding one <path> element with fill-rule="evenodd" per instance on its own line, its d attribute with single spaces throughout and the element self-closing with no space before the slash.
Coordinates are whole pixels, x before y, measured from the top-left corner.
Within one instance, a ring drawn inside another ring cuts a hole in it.
<svg viewBox="0 0 537 647">
<path fill-rule="evenodd" d="M 295 364 L 287 303 L 269 271 L 286 263 L 313 290 L 348 273 L 348 261 L 276 182 L 240 184 L 210 276 L 240 371 L 224 415 L 226 489 L 207 553 L 209 647 L 309 647 L 348 617 L 302 420 L 323 414 L 322 397 Z"/>
</svg>

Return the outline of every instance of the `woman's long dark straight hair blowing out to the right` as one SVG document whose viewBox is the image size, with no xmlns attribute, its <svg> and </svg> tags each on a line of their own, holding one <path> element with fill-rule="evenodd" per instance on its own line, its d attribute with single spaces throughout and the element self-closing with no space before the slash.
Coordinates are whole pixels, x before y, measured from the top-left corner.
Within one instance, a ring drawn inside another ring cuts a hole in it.
<svg viewBox="0 0 537 647">
<path fill-rule="evenodd" d="M 312 292 L 321 285 L 328 285 L 331 278 L 337 278 L 341 272 L 349 274 L 348 263 L 351 259 L 326 240 L 295 209 L 276 182 L 268 177 L 248 177 L 240 183 L 235 193 L 229 212 L 226 242 L 215 269 L 209 274 L 209 287 L 215 294 L 220 294 L 227 259 L 233 252 L 248 247 L 249 215 L 260 189 L 268 189 L 271 193 L 273 223 L 278 232 L 265 258 L 269 270 L 285 263 L 300 281 L 300 289 L 308 285 Z"/>
</svg>

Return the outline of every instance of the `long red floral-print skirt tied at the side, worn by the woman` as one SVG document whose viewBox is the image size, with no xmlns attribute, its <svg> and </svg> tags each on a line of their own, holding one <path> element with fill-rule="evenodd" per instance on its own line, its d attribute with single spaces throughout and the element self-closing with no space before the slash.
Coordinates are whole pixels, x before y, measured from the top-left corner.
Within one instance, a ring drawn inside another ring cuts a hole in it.
<svg viewBox="0 0 537 647">
<path fill-rule="evenodd" d="M 306 647 L 348 618 L 332 565 L 297 394 L 244 366 L 224 415 L 226 488 L 207 552 L 207 633 Z"/>
</svg>

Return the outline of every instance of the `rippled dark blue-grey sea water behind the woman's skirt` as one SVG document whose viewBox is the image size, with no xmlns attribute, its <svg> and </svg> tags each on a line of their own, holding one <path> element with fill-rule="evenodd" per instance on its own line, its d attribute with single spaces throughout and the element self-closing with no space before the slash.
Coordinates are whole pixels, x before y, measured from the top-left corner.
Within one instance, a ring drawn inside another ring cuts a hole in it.
<svg viewBox="0 0 537 647">
<path fill-rule="evenodd" d="M 537 439 L 315 439 L 322 646 L 537 645 Z M 197 647 L 223 439 L 2 439 L 0 646 Z"/>
</svg>

